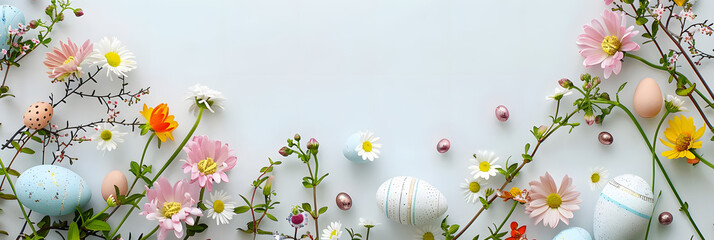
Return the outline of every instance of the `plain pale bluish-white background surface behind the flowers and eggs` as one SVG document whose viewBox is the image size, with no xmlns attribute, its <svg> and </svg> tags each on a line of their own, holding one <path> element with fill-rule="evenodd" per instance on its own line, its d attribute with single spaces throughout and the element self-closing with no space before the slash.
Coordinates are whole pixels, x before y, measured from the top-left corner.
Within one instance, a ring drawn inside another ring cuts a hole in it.
<svg viewBox="0 0 714 240">
<path fill-rule="evenodd" d="M 23 10 L 28 19 L 39 16 L 46 4 L 10 3 Z M 501 161 L 508 156 L 517 160 L 523 145 L 533 143 L 529 129 L 548 123 L 547 116 L 555 109 L 545 96 L 552 94 L 556 81 L 562 77 L 575 81 L 583 72 L 602 75 L 600 69 L 583 67 L 575 40 L 583 24 L 600 18 L 606 8 L 603 1 L 548 3 L 78 0 L 75 5 L 86 15 L 75 18 L 68 14 L 56 27 L 52 45 L 67 37 L 76 42 L 98 42 L 101 37 L 116 36 L 136 54 L 139 67 L 129 74 L 129 88 L 151 86 L 151 94 L 142 102 L 151 106 L 169 103 L 180 124 L 174 132 L 176 142 L 149 151 L 147 161 L 155 168 L 168 158 L 193 123 L 194 116 L 187 111 L 191 102 L 184 101 L 186 89 L 202 83 L 222 91 L 227 96 L 226 109 L 206 114 L 196 132 L 223 140 L 238 153 L 230 183 L 217 185 L 217 189 L 230 191 L 239 200 L 238 194 L 249 194 L 251 179 L 268 157 L 284 161 L 275 171 L 276 199 L 281 204 L 274 214 L 280 222 L 266 222 L 264 229 L 292 233 L 283 220 L 288 209 L 311 201 L 311 191 L 300 184 L 307 174 L 303 164 L 277 154 L 285 139 L 299 132 L 304 139 L 315 137 L 320 141 L 320 169 L 330 173 L 318 191 L 320 206 L 330 207 L 320 218 L 321 229 L 331 221 L 357 228 L 358 218 L 366 217 L 383 223 L 374 229 L 371 239 L 411 239 L 415 228 L 390 221 L 375 203 L 374 193 L 384 180 L 411 175 L 430 182 L 449 200 L 449 222 L 464 225 L 480 207 L 466 204 L 459 188 L 468 177 L 471 154 L 491 150 Z M 695 11 L 702 18 L 711 17 L 711 12 L 697 10 L 712 8 L 711 1 L 699 1 Z M 642 42 L 639 37 L 635 40 Z M 711 43 L 711 38 L 700 43 L 706 41 Z M 42 61 L 46 50 L 32 53 L 23 60 L 21 69 L 10 73 L 9 84 L 18 97 L 0 101 L 2 139 L 21 126 L 21 114 L 27 106 L 48 101 L 49 93 L 62 93 L 62 85 L 51 84 L 45 74 Z M 654 53 L 651 44 L 637 52 L 656 62 Z M 680 64 L 684 64 L 683 58 Z M 688 67 L 681 69 L 690 74 Z M 714 76 L 711 64 L 705 63 L 700 69 L 705 77 Z M 603 80 L 602 88 L 614 96 L 617 87 L 629 81 L 621 97 L 631 108 L 632 92 L 644 77 L 655 78 L 664 93 L 673 92 L 674 86 L 666 83 L 664 73 L 631 59 L 625 59 L 620 75 Z M 105 80 L 97 89 L 116 89 L 117 84 Z M 565 101 L 566 108 L 574 96 Z M 55 109 L 53 122 L 80 123 L 105 117 L 102 106 L 95 103 L 73 98 Z M 511 112 L 505 123 L 498 122 L 493 114 L 500 104 Z M 694 109 L 689 102 L 686 106 Z M 123 106 L 120 118 L 141 117 L 139 110 L 140 105 Z M 684 114 L 694 116 L 698 126 L 703 125 L 696 112 Z M 640 119 L 649 135 L 660 116 Z M 582 121 L 582 116 L 576 119 Z M 345 140 L 365 129 L 382 137 L 382 155 L 369 164 L 347 161 L 341 153 Z M 612 133 L 613 145 L 598 143 L 601 131 Z M 90 182 L 94 190 L 90 207 L 101 209 L 99 187 L 104 175 L 122 170 L 131 176 L 128 163 L 138 161 L 146 137 L 130 134 L 118 150 L 109 153 L 95 150 L 94 143 L 83 143 L 71 150 L 79 161 L 72 166 L 67 162 L 59 165 Z M 710 132 L 703 137 L 705 149 L 700 152 L 705 155 L 713 153 L 711 142 L 706 140 L 710 137 Z M 435 149 L 441 138 L 452 142 L 446 154 Z M 658 144 L 658 149 L 664 147 Z M 8 162 L 13 153 L 6 150 L 0 157 Z M 184 156 L 182 153 L 179 158 Z M 692 167 L 684 160 L 663 162 L 704 235 L 714 236 L 714 208 L 710 205 L 713 170 L 702 164 Z M 36 164 L 37 155 L 22 155 L 13 168 L 24 170 Z M 646 146 L 621 111 L 614 111 L 603 125 L 578 127 L 571 134 L 556 133 L 511 186 L 525 187 L 546 171 L 558 182 L 566 174 L 573 177 L 583 203 L 570 226 L 592 230 L 599 193 L 590 191 L 587 175 L 595 166 L 609 169 L 611 177 L 633 173 L 651 179 Z M 172 181 L 185 177 L 179 163 L 165 175 Z M 656 189 L 662 190 L 657 213 L 672 212 L 674 222 L 670 226 L 653 224 L 652 239 L 688 239 L 694 231 L 677 210 L 674 196 L 659 173 L 657 177 Z M 354 200 L 349 211 L 341 211 L 334 204 L 335 195 L 342 191 Z M 464 239 L 486 234 L 488 225 L 502 221 L 507 207 L 510 204 L 497 201 Z M 0 229 L 16 235 L 22 223 L 16 203 L 2 201 L 0 208 L 5 210 L 0 215 Z M 35 220 L 40 217 L 32 216 Z M 115 226 L 119 217 L 110 223 Z M 209 222 L 209 230 L 199 238 L 248 239 L 248 235 L 235 231 L 248 219 L 249 215 L 243 214 L 230 225 L 218 227 Z M 555 229 L 534 225 L 523 207 L 516 209 L 512 220 L 527 224 L 528 236 L 536 239 L 550 239 L 568 227 L 562 223 Z M 312 224 L 306 229 L 313 230 Z M 128 235 L 131 231 L 137 236 L 154 226 L 155 222 L 133 214 L 121 233 Z M 59 239 L 55 233 L 50 236 Z M 346 232 L 342 239 L 347 239 Z"/>
</svg>

